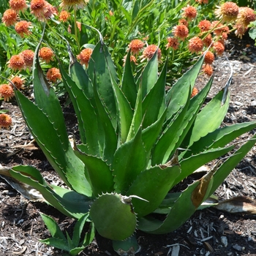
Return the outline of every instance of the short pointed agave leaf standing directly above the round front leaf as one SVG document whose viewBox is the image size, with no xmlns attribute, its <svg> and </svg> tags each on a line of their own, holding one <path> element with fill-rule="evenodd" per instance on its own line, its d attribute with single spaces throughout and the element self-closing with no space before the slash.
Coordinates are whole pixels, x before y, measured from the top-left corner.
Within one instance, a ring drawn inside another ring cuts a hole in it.
<svg viewBox="0 0 256 256">
<path fill-rule="evenodd" d="M 141 138 L 141 129 L 132 140 L 122 144 L 113 158 L 113 176 L 116 192 L 126 192 L 140 172 L 146 170 L 146 151 Z"/>
</svg>

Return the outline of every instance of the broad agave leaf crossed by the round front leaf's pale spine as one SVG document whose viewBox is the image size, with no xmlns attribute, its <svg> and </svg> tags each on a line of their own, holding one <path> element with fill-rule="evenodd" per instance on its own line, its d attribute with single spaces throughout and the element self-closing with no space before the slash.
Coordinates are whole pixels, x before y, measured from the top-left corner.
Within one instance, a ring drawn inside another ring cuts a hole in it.
<svg viewBox="0 0 256 256">
<path fill-rule="evenodd" d="M 151 214 L 162 203 L 180 172 L 178 165 L 170 167 L 154 166 L 138 175 L 127 192 L 127 195 L 137 195 L 147 200 L 146 202 L 138 198 L 132 198 L 132 206 L 134 206 L 138 217 Z"/>
</svg>

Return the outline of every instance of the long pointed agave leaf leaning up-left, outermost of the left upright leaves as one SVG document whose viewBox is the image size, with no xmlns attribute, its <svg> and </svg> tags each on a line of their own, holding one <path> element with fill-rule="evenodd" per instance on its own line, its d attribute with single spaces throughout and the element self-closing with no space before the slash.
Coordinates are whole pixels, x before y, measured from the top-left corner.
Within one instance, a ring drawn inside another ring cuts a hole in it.
<svg viewBox="0 0 256 256">
<path fill-rule="evenodd" d="M 37 105 L 34 105 L 20 91 L 15 91 L 15 96 L 31 134 L 42 148 L 50 164 L 69 187 L 90 197 L 92 192 L 89 182 L 84 176 L 83 162 L 75 156 L 70 143 L 67 147 L 64 146 L 56 128 Z M 42 127 L 47 132 L 42 132 Z"/>
</svg>

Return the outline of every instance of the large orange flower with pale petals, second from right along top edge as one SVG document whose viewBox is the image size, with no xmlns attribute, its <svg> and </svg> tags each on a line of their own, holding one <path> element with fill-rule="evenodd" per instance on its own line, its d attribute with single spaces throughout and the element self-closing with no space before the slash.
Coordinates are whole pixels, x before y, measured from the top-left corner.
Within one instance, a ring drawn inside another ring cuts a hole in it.
<svg viewBox="0 0 256 256">
<path fill-rule="evenodd" d="M 238 6 L 232 1 L 227 1 L 222 4 L 220 7 L 217 7 L 217 10 L 214 11 L 215 15 L 222 19 L 222 21 L 231 21 L 236 20 L 238 16 Z"/>
</svg>

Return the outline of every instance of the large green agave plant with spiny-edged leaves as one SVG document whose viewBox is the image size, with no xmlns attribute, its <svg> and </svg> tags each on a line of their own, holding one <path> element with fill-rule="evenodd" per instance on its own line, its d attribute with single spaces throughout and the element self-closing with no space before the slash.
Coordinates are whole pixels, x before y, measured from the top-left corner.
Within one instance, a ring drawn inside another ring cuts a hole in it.
<svg viewBox="0 0 256 256">
<path fill-rule="evenodd" d="M 152 234 L 176 230 L 255 143 L 255 136 L 240 148 L 231 143 L 254 129 L 255 121 L 220 128 L 229 105 L 228 92 L 219 91 L 203 105 L 213 78 L 190 97 L 204 56 L 165 91 L 167 64 L 159 73 L 157 53 L 135 75 L 128 53 L 118 80 L 108 47 L 100 40 L 88 69 L 70 48 L 69 72 L 59 64 L 78 118 L 80 141 L 72 144 L 59 99 L 39 65 L 39 45 L 33 69 L 34 102 L 18 90 L 15 96 L 34 140 L 67 187 L 48 184 L 32 166 L 18 165 L 5 174 L 34 187 L 51 206 L 78 219 L 71 239 L 65 238 L 53 219 L 42 215 L 53 236 L 44 242 L 71 255 L 91 242 L 94 227 L 113 240 L 120 255 L 132 255 L 138 249 L 133 236 L 137 229 Z M 187 189 L 173 192 L 197 168 L 230 151 L 222 164 L 214 165 Z M 91 222 L 91 230 L 79 242 L 86 222 Z"/>
</svg>

